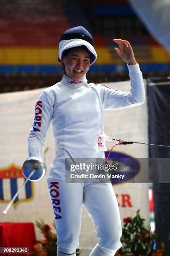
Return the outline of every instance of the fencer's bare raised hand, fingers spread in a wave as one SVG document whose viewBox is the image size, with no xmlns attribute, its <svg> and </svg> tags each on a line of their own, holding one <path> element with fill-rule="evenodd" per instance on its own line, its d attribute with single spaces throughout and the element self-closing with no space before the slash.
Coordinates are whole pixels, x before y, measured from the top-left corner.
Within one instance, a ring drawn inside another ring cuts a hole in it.
<svg viewBox="0 0 170 256">
<path fill-rule="evenodd" d="M 128 65 L 137 64 L 133 49 L 128 41 L 122 39 L 113 39 L 113 41 L 120 47 L 119 49 L 115 47 L 115 51 L 117 51 L 120 57 L 126 61 Z"/>
</svg>

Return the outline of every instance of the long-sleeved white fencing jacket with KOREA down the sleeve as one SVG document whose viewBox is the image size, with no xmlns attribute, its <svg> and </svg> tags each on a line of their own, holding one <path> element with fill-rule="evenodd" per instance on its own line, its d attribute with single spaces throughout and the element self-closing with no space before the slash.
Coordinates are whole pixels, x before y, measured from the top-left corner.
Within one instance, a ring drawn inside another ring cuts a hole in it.
<svg viewBox="0 0 170 256">
<path fill-rule="evenodd" d="M 88 84 L 85 77 L 75 81 L 66 75 L 43 90 L 35 104 L 34 123 L 28 137 L 29 156 L 43 159 L 43 145 L 52 120 L 56 152 L 64 149 L 72 158 L 104 158 L 97 140 L 98 135 L 105 139 L 103 110 L 133 107 L 145 101 L 139 65 L 128 65 L 128 69 L 129 92 Z"/>
</svg>

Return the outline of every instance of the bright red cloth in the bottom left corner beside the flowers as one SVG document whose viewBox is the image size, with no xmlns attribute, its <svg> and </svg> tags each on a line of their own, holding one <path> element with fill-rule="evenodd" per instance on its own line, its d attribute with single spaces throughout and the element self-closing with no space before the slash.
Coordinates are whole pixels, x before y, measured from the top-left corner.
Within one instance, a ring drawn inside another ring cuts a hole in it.
<svg viewBox="0 0 170 256">
<path fill-rule="evenodd" d="M 0 223 L 0 247 L 28 247 L 30 253 L 34 251 L 35 243 L 33 223 Z M 3 255 L 11 256 L 9 253 Z M 21 254 L 15 253 L 15 255 Z"/>
</svg>

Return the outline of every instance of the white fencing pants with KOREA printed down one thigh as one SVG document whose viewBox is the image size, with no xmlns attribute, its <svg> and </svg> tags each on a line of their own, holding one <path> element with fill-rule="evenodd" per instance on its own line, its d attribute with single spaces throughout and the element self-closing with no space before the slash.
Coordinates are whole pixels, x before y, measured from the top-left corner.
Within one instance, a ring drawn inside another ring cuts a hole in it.
<svg viewBox="0 0 170 256">
<path fill-rule="evenodd" d="M 122 228 L 112 184 L 65 183 L 60 178 L 47 179 L 55 214 L 58 250 L 71 254 L 79 246 L 83 205 L 97 230 L 100 249 L 106 255 L 114 255 L 122 245 Z"/>
</svg>

